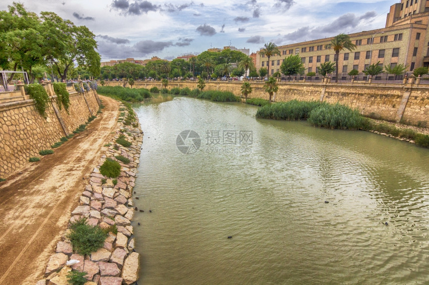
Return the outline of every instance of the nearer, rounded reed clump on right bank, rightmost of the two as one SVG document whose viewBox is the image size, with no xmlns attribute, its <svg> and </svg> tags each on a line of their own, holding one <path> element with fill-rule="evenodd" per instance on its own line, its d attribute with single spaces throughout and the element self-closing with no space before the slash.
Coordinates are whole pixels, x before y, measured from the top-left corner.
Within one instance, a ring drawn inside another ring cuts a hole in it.
<svg viewBox="0 0 429 285">
<path fill-rule="evenodd" d="M 313 125 L 331 129 L 358 130 L 368 124 L 357 109 L 336 104 L 320 104 L 310 112 L 308 121 Z"/>
</svg>

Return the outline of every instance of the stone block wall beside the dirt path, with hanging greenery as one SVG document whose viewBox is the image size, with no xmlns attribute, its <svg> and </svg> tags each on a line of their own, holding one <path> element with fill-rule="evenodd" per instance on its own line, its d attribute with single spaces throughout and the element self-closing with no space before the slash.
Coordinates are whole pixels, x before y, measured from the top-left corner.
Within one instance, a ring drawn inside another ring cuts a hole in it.
<svg viewBox="0 0 429 285">
<path fill-rule="evenodd" d="M 22 95 L 23 87 L 12 92 L 21 94 L 22 99 L 0 102 L 0 178 L 28 166 L 30 157 L 40 157 L 40 150 L 50 149 L 97 113 L 99 98 L 95 91 L 72 92 L 67 112 L 64 107 L 58 108 L 51 84 L 43 86 L 51 99 L 46 106 L 46 118 L 37 112 L 28 95 Z"/>
</svg>

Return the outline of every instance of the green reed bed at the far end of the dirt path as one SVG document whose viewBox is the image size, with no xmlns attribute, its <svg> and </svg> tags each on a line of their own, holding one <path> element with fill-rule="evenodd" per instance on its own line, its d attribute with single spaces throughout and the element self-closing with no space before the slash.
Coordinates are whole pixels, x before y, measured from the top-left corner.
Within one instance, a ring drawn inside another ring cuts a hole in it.
<svg viewBox="0 0 429 285">
<path fill-rule="evenodd" d="M 151 98 L 149 90 L 145 88 L 126 88 L 121 86 L 102 86 L 98 87 L 97 92 L 102 95 L 116 97 L 127 102 L 142 102 L 146 98 Z"/>
</svg>

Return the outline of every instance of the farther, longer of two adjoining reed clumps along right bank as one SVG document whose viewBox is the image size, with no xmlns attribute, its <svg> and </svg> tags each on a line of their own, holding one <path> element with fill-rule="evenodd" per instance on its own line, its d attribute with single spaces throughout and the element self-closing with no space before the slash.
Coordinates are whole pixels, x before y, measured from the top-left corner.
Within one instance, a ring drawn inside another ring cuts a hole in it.
<svg viewBox="0 0 429 285">
<path fill-rule="evenodd" d="M 275 120 L 306 120 L 310 112 L 322 104 L 325 103 L 298 100 L 266 104 L 257 110 L 256 117 Z"/>
</svg>

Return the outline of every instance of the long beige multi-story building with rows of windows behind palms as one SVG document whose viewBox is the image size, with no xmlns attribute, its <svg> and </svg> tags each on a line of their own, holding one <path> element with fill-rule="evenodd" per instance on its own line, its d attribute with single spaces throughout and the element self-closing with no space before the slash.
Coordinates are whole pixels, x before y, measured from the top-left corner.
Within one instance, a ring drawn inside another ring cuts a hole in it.
<svg viewBox="0 0 429 285">
<path fill-rule="evenodd" d="M 353 69 L 362 72 L 370 64 L 394 67 L 407 66 L 408 71 L 429 66 L 429 0 L 401 0 L 391 6 L 386 27 L 349 34 L 353 51 L 343 50 L 338 58 L 339 73 Z M 335 60 L 333 49 L 326 49 L 331 38 L 278 46 L 280 55 L 271 56 L 269 74 L 280 71 L 280 65 L 289 55 L 299 54 L 305 73 L 316 72 L 321 63 Z M 256 68 L 267 66 L 267 57 L 257 52 Z"/>
</svg>

